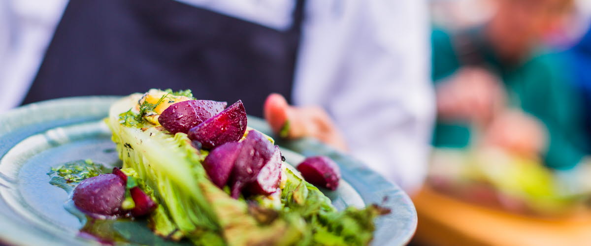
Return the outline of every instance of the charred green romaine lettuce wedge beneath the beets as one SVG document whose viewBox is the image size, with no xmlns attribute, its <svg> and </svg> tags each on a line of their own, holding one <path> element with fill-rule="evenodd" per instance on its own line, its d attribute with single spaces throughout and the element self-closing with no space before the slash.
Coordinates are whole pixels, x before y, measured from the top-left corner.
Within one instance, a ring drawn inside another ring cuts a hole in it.
<svg viewBox="0 0 591 246">
<path fill-rule="evenodd" d="M 106 120 L 124 168 L 133 168 L 160 204 L 150 216 L 156 234 L 196 245 L 366 245 L 383 209 L 338 212 L 316 187 L 283 169 L 280 196 L 233 199 L 208 178 L 207 155 L 184 133 L 167 134 L 138 116 L 141 94 L 117 101 Z M 293 170 L 293 169 L 292 169 Z M 277 199 L 280 199 L 277 201 Z"/>
</svg>

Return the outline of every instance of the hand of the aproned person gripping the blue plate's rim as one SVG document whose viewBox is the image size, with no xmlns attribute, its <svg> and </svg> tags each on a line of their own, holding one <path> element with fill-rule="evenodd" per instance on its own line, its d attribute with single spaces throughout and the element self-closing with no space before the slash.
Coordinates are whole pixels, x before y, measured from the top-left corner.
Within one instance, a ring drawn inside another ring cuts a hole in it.
<svg viewBox="0 0 591 246">
<path fill-rule="evenodd" d="M 287 139 L 314 137 L 346 151 L 343 135 L 321 107 L 294 107 L 280 94 L 270 94 L 264 106 L 265 119 L 275 133 Z"/>
</svg>

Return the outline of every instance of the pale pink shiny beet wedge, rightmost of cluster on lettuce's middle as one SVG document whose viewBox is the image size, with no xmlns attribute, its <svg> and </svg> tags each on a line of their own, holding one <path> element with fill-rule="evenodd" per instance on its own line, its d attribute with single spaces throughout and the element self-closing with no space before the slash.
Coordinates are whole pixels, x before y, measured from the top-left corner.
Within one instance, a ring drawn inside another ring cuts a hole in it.
<svg viewBox="0 0 591 246">
<path fill-rule="evenodd" d="M 281 182 L 281 151 L 275 146 L 275 152 L 249 185 L 249 191 L 255 194 L 269 195 L 277 192 Z"/>
</svg>

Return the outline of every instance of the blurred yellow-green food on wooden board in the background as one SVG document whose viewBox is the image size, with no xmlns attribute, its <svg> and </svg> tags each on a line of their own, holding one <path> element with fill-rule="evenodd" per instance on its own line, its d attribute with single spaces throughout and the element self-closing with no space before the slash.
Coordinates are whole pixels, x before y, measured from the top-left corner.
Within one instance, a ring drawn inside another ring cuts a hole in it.
<svg viewBox="0 0 591 246">
<path fill-rule="evenodd" d="M 569 215 L 589 202 L 589 184 L 584 179 L 580 185 L 586 189 L 571 189 L 561 178 L 538 160 L 499 149 L 438 149 L 429 181 L 436 191 L 463 201 L 548 217 Z"/>
</svg>

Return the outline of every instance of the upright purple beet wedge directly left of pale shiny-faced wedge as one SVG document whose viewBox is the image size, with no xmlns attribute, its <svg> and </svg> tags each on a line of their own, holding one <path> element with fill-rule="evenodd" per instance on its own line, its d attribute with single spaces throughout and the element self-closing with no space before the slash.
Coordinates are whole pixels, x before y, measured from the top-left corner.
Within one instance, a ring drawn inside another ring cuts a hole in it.
<svg viewBox="0 0 591 246">
<path fill-rule="evenodd" d="M 230 178 L 233 198 L 238 198 L 242 190 L 256 180 L 262 167 L 275 152 L 275 146 L 256 130 L 248 132 L 241 144 Z"/>
</svg>

